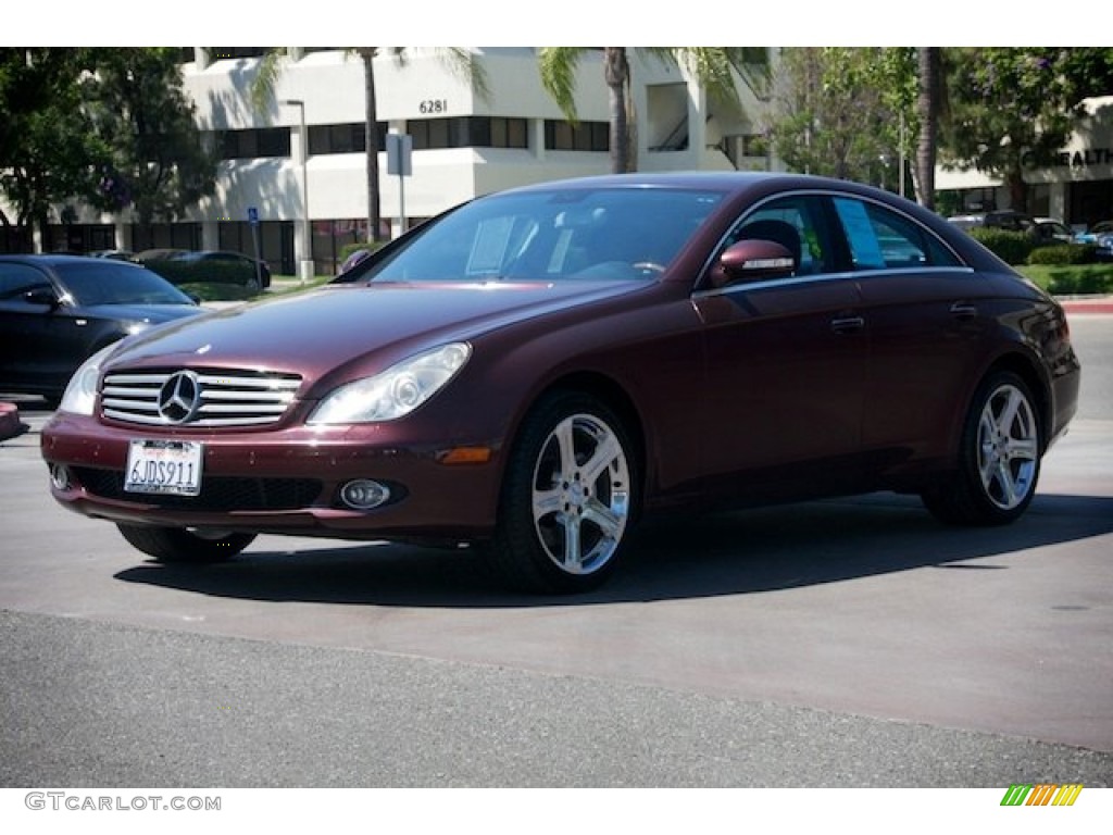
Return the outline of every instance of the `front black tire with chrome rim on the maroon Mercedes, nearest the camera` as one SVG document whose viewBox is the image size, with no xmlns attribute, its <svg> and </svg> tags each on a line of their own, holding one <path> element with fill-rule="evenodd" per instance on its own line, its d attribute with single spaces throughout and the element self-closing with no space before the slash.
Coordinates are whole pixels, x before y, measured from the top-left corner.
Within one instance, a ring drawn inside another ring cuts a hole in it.
<svg viewBox="0 0 1113 835">
<path fill-rule="evenodd" d="M 489 562 L 521 591 L 598 588 L 614 571 L 637 518 L 637 484 L 621 420 L 594 397 L 550 393 L 511 451 Z"/>
</svg>

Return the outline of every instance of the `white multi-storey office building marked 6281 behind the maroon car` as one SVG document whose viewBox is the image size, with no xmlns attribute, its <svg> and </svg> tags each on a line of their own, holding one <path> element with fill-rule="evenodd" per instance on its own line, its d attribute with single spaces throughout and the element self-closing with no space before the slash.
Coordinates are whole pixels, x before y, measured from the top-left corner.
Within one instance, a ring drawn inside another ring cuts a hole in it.
<svg viewBox="0 0 1113 835">
<path fill-rule="evenodd" d="M 481 95 L 444 50 L 407 49 L 375 59 L 378 130 L 412 141 L 412 174 L 387 173 L 380 154 L 381 214 L 396 235 L 490 191 L 609 170 L 608 91 L 602 51 L 577 76 L 579 120 L 569 124 L 542 88 L 534 48 L 474 48 L 486 79 Z M 223 157 L 215 194 L 174 224 L 138 227 L 131 218 L 78 210 L 45 249 L 119 247 L 234 249 L 259 254 L 282 274 L 331 274 L 345 244 L 366 237 L 367 178 L 362 59 L 342 49 L 289 48 L 274 102 L 252 105 L 263 50 L 184 52 L 185 89 L 198 127 Z M 681 67 L 631 49 L 640 170 L 765 168 L 747 157 L 760 132 L 762 102 L 739 77 L 741 108 L 716 108 Z M 768 71 L 768 66 L 766 66 Z M 255 218 L 256 223 L 252 223 Z M 257 243 L 256 243 L 257 238 Z"/>
</svg>

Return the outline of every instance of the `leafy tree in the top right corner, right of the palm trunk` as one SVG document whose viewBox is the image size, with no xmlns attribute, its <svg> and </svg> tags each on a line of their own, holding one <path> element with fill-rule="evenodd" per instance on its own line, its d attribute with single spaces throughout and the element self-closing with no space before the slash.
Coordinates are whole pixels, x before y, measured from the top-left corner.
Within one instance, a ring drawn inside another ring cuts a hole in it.
<svg viewBox="0 0 1113 835">
<path fill-rule="evenodd" d="M 1025 167 L 1066 144 L 1084 97 L 1113 88 L 1109 48 L 954 48 L 944 57 L 944 161 L 999 177 L 1020 209 L 1027 205 Z"/>
</svg>

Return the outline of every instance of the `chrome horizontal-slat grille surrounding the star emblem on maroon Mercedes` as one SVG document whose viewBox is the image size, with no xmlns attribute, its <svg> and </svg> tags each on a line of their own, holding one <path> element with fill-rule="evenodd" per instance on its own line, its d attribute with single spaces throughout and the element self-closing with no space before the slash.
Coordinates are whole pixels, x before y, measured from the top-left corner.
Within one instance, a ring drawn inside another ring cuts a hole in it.
<svg viewBox="0 0 1113 835">
<path fill-rule="evenodd" d="M 117 372 L 100 391 L 105 418 L 145 425 L 265 426 L 277 423 L 294 401 L 302 379 L 257 371 L 195 370 L 199 402 L 183 423 L 159 412 L 159 393 L 178 369 Z"/>
</svg>

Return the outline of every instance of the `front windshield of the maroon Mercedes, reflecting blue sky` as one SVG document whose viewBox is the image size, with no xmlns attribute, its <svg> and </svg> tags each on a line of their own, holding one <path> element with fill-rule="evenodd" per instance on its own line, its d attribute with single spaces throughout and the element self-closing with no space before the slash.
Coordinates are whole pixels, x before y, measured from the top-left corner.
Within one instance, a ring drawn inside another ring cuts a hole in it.
<svg viewBox="0 0 1113 835">
<path fill-rule="evenodd" d="M 614 188 L 506 194 L 433 223 L 362 277 L 375 282 L 646 279 L 672 262 L 715 191 Z"/>
</svg>

